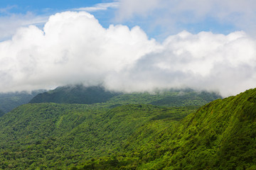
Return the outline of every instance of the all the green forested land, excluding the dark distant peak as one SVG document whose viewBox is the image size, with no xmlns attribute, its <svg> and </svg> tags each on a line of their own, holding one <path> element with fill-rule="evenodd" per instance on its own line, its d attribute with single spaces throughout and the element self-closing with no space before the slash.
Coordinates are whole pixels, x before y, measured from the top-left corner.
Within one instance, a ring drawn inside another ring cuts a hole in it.
<svg viewBox="0 0 256 170">
<path fill-rule="evenodd" d="M 198 107 L 214 95 L 19 106 L 0 118 L 0 169 L 256 169 L 256 89 Z"/>
</svg>

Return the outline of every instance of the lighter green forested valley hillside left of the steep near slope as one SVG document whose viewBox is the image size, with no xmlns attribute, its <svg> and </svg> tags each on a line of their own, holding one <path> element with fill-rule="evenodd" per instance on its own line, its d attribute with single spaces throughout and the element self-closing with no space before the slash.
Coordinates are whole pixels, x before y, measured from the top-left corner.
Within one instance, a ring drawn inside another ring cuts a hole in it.
<svg viewBox="0 0 256 170">
<path fill-rule="evenodd" d="M 146 123 L 176 121 L 188 113 L 189 108 L 150 105 L 111 110 L 100 104 L 23 105 L 0 119 L 0 168 L 67 168 L 93 157 L 124 152 L 126 140 Z"/>
</svg>

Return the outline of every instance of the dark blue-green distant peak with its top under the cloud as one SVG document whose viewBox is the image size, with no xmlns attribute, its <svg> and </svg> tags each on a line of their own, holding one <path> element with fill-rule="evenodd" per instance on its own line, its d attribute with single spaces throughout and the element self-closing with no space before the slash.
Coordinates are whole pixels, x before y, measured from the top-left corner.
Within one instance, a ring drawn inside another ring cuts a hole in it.
<svg viewBox="0 0 256 170">
<path fill-rule="evenodd" d="M 119 93 L 105 91 L 102 86 L 82 85 L 60 86 L 52 91 L 38 94 L 29 103 L 78 103 L 92 104 L 106 102 Z"/>
</svg>

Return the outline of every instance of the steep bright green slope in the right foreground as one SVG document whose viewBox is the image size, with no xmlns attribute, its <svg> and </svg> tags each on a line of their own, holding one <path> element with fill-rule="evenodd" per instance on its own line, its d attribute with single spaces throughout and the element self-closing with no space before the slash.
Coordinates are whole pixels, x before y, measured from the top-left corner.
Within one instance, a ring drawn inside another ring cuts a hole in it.
<svg viewBox="0 0 256 170">
<path fill-rule="evenodd" d="M 77 168 L 256 169 L 256 89 L 208 103 L 179 123 L 162 125 L 157 120 L 138 128 L 127 139 L 125 154 Z"/>
</svg>

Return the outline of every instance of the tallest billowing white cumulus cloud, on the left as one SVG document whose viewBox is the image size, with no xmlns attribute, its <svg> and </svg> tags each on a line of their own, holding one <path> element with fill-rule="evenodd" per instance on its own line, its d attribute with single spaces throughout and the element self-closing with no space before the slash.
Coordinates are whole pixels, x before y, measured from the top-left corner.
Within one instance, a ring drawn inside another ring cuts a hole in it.
<svg viewBox="0 0 256 170">
<path fill-rule="evenodd" d="M 0 43 L 1 91 L 99 84 L 154 48 L 139 27 L 105 29 L 86 12 L 56 13 L 43 30 L 21 28 Z"/>
</svg>

